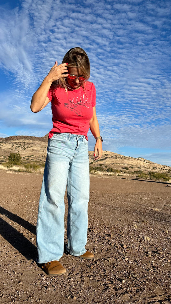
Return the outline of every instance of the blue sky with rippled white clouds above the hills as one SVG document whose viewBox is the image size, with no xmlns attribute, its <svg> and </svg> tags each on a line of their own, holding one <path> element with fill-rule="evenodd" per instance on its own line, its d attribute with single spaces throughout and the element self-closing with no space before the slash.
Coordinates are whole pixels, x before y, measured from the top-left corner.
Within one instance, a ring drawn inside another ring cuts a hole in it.
<svg viewBox="0 0 171 304">
<path fill-rule="evenodd" d="M 103 149 L 171 165 L 170 16 L 170 0 L 3 1 L 0 137 L 49 132 L 50 104 L 32 113 L 31 97 L 55 60 L 79 46 L 91 64 Z"/>
</svg>

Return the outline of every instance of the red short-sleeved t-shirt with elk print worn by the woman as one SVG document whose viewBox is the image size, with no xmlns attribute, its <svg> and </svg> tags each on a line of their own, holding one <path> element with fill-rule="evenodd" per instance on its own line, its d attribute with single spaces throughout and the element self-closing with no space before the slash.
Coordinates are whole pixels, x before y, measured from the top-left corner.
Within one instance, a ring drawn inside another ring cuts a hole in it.
<svg viewBox="0 0 171 304">
<path fill-rule="evenodd" d="M 84 89 L 70 90 L 55 88 L 48 92 L 52 103 L 53 128 L 49 132 L 51 138 L 54 132 L 81 134 L 87 139 L 89 121 L 93 117 L 93 107 L 96 105 L 96 89 L 92 82 L 86 81 Z"/>
</svg>

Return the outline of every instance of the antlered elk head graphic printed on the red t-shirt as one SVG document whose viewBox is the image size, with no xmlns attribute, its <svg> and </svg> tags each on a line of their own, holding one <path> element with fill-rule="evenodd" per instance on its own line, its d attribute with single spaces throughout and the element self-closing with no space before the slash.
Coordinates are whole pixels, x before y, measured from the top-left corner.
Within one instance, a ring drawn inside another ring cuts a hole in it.
<svg viewBox="0 0 171 304">
<path fill-rule="evenodd" d="M 68 99 L 68 103 L 64 103 L 64 106 L 67 107 L 69 110 L 74 111 L 78 116 L 82 116 L 83 107 L 89 108 L 88 105 L 90 102 L 87 102 L 88 98 L 84 99 L 84 94 L 81 96 L 80 99 L 78 97 L 75 100 L 75 97 L 73 100 L 71 98 Z"/>
</svg>

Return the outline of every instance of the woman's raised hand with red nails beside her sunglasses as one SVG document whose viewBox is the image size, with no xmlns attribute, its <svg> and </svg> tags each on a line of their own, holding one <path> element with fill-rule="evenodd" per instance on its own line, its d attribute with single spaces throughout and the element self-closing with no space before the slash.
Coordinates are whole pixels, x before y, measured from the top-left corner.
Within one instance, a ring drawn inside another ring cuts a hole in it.
<svg viewBox="0 0 171 304">
<path fill-rule="evenodd" d="M 51 68 L 48 75 L 46 76 L 46 79 L 52 83 L 53 81 L 56 81 L 62 77 L 69 76 L 69 74 L 63 74 L 68 72 L 67 64 L 68 63 L 61 63 L 60 65 L 58 65 L 56 61 L 54 66 Z"/>
</svg>

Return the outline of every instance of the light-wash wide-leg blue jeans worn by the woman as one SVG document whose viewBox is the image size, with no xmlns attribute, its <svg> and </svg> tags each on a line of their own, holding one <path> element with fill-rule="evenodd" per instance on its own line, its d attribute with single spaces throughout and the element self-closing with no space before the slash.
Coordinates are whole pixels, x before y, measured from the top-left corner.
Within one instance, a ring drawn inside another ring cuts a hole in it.
<svg viewBox="0 0 171 304">
<path fill-rule="evenodd" d="M 64 194 L 67 185 L 67 251 L 86 252 L 89 201 L 89 154 L 85 136 L 54 133 L 48 141 L 37 220 L 38 263 L 64 253 Z"/>
</svg>

